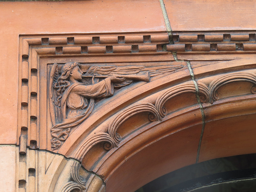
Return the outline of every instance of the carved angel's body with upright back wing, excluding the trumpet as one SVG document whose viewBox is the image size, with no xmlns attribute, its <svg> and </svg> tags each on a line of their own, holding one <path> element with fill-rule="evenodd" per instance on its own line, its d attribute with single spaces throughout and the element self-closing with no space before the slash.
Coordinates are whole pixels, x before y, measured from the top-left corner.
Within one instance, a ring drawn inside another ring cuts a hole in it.
<svg viewBox="0 0 256 192">
<path fill-rule="evenodd" d="M 94 98 L 112 96 L 112 82 L 123 82 L 124 78 L 110 76 L 104 80 L 86 85 L 82 83 L 82 70 L 78 63 L 66 63 L 59 76 L 58 65 L 54 64 L 50 75 L 50 113 L 52 149 L 58 149 L 69 135 L 70 128 L 86 119 L 94 108 Z M 92 78 L 94 82 L 94 78 Z"/>
</svg>

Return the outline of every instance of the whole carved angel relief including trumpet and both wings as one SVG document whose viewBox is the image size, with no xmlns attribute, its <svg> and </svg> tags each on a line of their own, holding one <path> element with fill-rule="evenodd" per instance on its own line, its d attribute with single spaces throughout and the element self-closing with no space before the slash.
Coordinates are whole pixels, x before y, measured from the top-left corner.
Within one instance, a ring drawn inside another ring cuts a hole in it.
<svg viewBox="0 0 256 192">
<path fill-rule="evenodd" d="M 81 66 L 77 62 L 68 62 L 64 65 L 54 64 L 51 68 L 49 103 L 53 125 L 52 150 L 60 148 L 71 128 L 90 116 L 96 100 L 113 96 L 114 90 L 134 81 L 149 82 L 151 77 L 183 67 L 92 65 L 83 72 Z"/>
</svg>

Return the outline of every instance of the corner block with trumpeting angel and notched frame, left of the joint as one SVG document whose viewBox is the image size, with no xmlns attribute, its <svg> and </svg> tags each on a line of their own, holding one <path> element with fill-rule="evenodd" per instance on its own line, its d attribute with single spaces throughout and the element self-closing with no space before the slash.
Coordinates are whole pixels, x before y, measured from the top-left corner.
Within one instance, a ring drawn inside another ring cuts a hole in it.
<svg viewBox="0 0 256 192">
<path fill-rule="evenodd" d="M 20 36 L 20 152 L 27 145 L 56 152 L 111 98 L 184 70 L 186 63 L 165 51 L 168 41 L 165 33 Z M 97 134 L 118 143 L 112 130 Z"/>
</svg>

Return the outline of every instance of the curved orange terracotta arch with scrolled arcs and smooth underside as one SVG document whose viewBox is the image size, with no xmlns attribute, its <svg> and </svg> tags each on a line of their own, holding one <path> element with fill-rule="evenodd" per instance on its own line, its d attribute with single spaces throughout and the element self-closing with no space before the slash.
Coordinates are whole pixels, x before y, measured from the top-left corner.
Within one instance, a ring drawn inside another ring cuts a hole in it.
<svg viewBox="0 0 256 192">
<path fill-rule="evenodd" d="M 180 79 L 183 70 L 171 80 L 167 76 L 140 86 L 143 94 L 131 90 L 129 97 L 118 98 L 123 102 L 117 106 L 110 102 L 99 109 L 106 114 L 104 121 L 91 117 L 98 121 L 91 137 L 74 140 L 72 134 L 67 154 L 100 175 L 107 191 L 134 191 L 196 162 L 255 153 L 255 63 L 218 62 L 193 69 L 195 80 Z M 76 131 L 85 130 L 84 125 Z M 105 143 L 102 135 L 88 145 L 100 132 L 113 143 Z"/>
</svg>

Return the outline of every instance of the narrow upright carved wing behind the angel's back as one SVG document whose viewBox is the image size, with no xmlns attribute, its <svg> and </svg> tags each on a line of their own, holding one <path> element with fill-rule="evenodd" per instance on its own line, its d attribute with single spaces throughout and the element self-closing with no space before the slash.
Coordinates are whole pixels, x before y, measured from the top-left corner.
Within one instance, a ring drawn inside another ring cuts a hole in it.
<svg viewBox="0 0 256 192">
<path fill-rule="evenodd" d="M 60 103 L 57 101 L 57 80 L 59 77 L 58 64 L 54 63 L 50 72 L 49 81 L 49 97 L 50 97 L 50 114 L 52 119 L 52 124 L 55 125 L 56 122 L 61 122 L 61 110 Z"/>
</svg>

